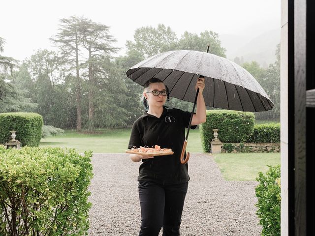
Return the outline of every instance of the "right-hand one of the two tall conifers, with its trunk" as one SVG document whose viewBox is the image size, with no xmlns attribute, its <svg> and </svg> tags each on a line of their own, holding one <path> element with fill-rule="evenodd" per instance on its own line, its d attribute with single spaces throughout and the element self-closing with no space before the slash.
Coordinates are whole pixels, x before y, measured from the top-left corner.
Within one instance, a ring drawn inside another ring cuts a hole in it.
<svg viewBox="0 0 315 236">
<path fill-rule="evenodd" d="M 106 80 L 108 76 L 106 74 L 106 67 L 111 64 L 111 54 L 117 52 L 118 48 L 112 46 L 112 44 L 116 42 L 116 39 L 109 34 L 108 26 L 92 22 L 89 19 L 82 18 L 80 20 L 82 44 L 88 53 L 88 59 L 86 61 L 89 85 L 88 126 L 89 132 L 94 132 L 95 93 L 97 91 L 97 84 L 99 83 L 98 80 Z M 104 65 L 104 63 L 107 66 Z"/>
</svg>

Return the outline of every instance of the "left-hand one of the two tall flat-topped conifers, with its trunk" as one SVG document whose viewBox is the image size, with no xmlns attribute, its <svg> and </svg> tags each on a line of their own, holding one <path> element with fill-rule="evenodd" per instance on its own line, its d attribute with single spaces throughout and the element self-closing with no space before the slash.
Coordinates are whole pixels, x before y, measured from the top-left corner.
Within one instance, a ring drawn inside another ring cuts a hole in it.
<svg viewBox="0 0 315 236">
<path fill-rule="evenodd" d="M 81 114 L 81 83 L 80 77 L 80 44 L 82 43 L 81 20 L 71 16 L 69 19 L 61 19 L 59 32 L 51 40 L 59 46 L 63 59 L 67 61 L 69 70 L 75 69 L 76 74 L 76 109 L 77 109 L 77 131 L 82 130 L 82 114 Z"/>
</svg>

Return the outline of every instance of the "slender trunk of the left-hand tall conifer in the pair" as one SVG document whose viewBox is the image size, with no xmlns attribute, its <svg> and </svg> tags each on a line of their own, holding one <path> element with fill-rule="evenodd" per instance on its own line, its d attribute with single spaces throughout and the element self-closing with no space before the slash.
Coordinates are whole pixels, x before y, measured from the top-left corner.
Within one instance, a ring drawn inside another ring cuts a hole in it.
<svg viewBox="0 0 315 236">
<path fill-rule="evenodd" d="M 82 130 L 81 120 L 81 85 L 79 76 L 79 49 L 78 49 L 78 32 L 75 30 L 75 62 L 76 62 L 76 105 L 77 105 L 77 132 Z"/>
</svg>

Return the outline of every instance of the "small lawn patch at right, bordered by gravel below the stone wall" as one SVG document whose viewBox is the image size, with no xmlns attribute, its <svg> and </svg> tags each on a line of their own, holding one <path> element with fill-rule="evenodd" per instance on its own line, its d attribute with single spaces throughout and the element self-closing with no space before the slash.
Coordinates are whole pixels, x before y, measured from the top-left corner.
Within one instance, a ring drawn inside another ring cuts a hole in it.
<svg viewBox="0 0 315 236">
<path fill-rule="evenodd" d="M 221 153 L 214 158 L 225 180 L 255 180 L 267 165 L 280 164 L 280 153 Z"/>
</svg>

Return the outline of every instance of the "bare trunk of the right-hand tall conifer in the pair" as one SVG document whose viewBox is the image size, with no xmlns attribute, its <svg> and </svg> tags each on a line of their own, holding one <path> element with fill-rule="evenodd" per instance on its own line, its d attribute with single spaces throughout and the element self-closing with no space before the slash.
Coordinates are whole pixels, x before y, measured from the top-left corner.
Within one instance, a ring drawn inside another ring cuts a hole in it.
<svg viewBox="0 0 315 236">
<path fill-rule="evenodd" d="M 89 132 L 94 132 L 94 78 L 93 78 L 93 68 L 92 68 L 92 53 L 91 48 L 89 50 Z"/>
</svg>

